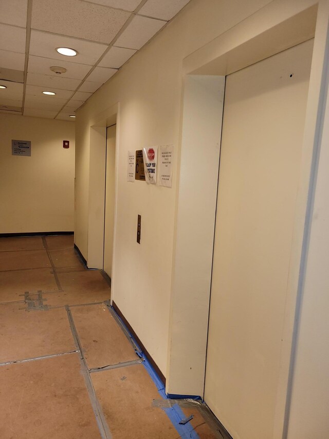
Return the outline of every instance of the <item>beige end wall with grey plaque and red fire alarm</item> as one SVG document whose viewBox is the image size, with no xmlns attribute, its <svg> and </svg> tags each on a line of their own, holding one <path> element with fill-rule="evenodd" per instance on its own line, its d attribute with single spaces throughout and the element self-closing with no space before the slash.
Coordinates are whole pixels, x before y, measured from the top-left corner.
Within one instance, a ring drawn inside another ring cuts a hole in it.
<svg viewBox="0 0 329 439">
<path fill-rule="evenodd" d="M 75 123 L 0 114 L 0 133 L 0 233 L 73 231 Z M 12 155 L 12 139 L 31 156 Z"/>
</svg>

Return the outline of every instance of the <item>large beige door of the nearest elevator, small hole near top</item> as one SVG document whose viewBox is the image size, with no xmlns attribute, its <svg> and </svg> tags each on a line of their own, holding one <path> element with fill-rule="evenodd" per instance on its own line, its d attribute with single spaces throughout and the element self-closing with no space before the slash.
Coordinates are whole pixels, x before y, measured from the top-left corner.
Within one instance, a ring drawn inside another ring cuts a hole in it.
<svg viewBox="0 0 329 439">
<path fill-rule="evenodd" d="M 205 401 L 272 439 L 313 40 L 226 78 Z"/>
</svg>

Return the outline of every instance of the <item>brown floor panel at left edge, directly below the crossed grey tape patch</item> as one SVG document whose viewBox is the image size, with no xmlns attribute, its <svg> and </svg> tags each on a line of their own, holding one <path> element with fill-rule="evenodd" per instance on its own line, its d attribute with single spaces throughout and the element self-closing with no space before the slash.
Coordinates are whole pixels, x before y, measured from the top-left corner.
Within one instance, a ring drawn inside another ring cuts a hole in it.
<svg viewBox="0 0 329 439">
<path fill-rule="evenodd" d="M 64 308 L 26 309 L 25 303 L 0 305 L 0 363 L 76 349 Z"/>
</svg>

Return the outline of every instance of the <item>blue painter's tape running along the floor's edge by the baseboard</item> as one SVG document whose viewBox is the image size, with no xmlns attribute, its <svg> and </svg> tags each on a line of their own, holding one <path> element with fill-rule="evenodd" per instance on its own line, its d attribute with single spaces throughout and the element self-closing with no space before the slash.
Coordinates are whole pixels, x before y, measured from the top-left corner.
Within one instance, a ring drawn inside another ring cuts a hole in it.
<svg viewBox="0 0 329 439">
<path fill-rule="evenodd" d="M 113 309 L 113 311 L 115 312 L 114 308 L 111 306 L 111 308 Z M 117 314 L 118 315 L 118 314 Z M 134 338 L 132 337 L 131 333 L 127 330 L 126 326 L 124 325 L 124 323 L 122 322 L 122 320 L 120 319 L 120 317 L 118 316 L 122 326 L 125 328 L 125 330 L 127 331 L 127 333 L 129 333 L 129 336 L 132 338 L 132 340 L 134 340 Z M 136 344 L 136 346 L 138 346 L 138 344 L 136 343 L 136 340 L 134 340 L 134 343 Z M 139 347 L 139 346 L 138 346 Z M 139 348 L 139 352 L 141 353 L 141 350 Z M 136 351 L 136 353 L 139 355 L 139 352 Z M 156 374 L 154 368 L 152 367 L 152 365 L 150 364 L 150 362 L 148 361 L 147 358 L 144 357 L 144 361 L 142 362 L 143 366 L 145 367 L 145 369 L 148 371 L 150 377 L 152 378 L 154 384 L 156 385 L 156 388 L 160 394 L 160 396 L 163 399 L 170 399 L 168 398 L 168 396 L 166 395 L 166 389 L 163 386 L 162 381 L 160 380 L 160 378 L 158 377 L 158 375 Z M 198 398 L 198 397 L 197 397 Z M 194 428 L 192 427 L 191 423 L 188 422 L 187 424 L 183 425 L 183 424 L 179 424 L 179 421 L 181 419 L 184 419 L 186 416 L 185 414 L 182 412 L 181 408 L 178 406 L 178 404 L 175 404 L 172 407 L 166 407 L 163 408 L 162 410 L 164 410 L 167 414 L 167 416 L 169 417 L 169 419 L 171 420 L 172 424 L 174 425 L 174 427 L 176 428 L 178 434 L 184 438 L 184 439 L 199 439 L 199 435 L 196 433 L 196 431 L 194 430 Z"/>
</svg>

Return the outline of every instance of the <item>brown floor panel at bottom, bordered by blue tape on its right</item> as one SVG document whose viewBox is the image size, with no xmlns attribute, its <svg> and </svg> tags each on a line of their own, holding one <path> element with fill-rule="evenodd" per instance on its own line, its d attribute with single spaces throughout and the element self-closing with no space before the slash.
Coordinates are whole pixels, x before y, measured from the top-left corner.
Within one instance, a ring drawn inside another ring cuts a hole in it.
<svg viewBox="0 0 329 439">
<path fill-rule="evenodd" d="M 91 376 L 113 439 L 179 437 L 166 413 L 152 407 L 160 396 L 142 364 Z"/>
</svg>

